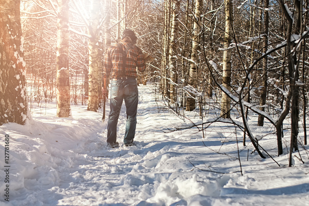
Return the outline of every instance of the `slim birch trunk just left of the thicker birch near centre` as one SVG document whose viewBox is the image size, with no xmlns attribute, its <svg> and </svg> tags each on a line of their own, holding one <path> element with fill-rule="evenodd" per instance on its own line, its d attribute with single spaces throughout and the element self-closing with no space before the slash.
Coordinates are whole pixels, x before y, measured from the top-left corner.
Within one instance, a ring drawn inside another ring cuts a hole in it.
<svg viewBox="0 0 309 206">
<path fill-rule="evenodd" d="M 176 94 L 176 85 L 178 78 L 178 70 L 177 70 L 177 33 L 178 33 L 178 15 L 179 15 L 179 6 L 180 1 L 175 1 L 173 3 L 173 17 L 172 17 L 172 27 L 171 27 L 171 44 L 169 49 L 169 69 L 170 69 L 170 79 L 171 79 L 171 103 L 177 102 L 177 94 Z"/>
</svg>

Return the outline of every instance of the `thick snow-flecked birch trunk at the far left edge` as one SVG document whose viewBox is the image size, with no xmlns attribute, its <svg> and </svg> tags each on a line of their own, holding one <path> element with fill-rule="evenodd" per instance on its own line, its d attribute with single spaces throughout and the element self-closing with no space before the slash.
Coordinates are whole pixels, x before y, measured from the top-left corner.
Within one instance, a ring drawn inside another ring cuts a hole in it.
<svg viewBox="0 0 309 206">
<path fill-rule="evenodd" d="M 20 0 L 0 4 L 0 125 L 32 120 L 28 110 Z"/>
</svg>

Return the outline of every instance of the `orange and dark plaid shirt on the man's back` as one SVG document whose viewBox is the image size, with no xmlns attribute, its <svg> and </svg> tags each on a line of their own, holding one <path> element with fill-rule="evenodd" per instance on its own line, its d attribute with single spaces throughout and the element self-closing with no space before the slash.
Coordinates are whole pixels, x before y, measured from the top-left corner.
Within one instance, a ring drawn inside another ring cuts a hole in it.
<svg viewBox="0 0 309 206">
<path fill-rule="evenodd" d="M 122 46 L 123 51 L 126 51 L 126 48 L 129 42 L 126 40 L 121 40 L 120 45 Z M 123 54 L 120 52 L 117 44 L 112 44 L 105 54 L 103 62 L 103 74 L 106 74 L 107 77 L 111 74 L 111 78 L 122 77 L 122 58 Z M 137 77 L 136 67 L 139 71 L 144 72 L 146 69 L 145 62 L 143 60 L 142 50 L 135 45 L 129 49 L 126 57 L 126 66 L 125 66 L 125 75 L 126 77 Z"/>
</svg>

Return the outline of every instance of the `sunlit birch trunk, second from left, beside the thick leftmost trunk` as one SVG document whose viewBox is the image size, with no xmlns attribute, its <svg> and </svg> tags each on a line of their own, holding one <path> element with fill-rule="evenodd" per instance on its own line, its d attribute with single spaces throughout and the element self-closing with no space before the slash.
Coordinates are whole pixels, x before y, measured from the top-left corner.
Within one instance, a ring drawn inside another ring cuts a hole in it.
<svg viewBox="0 0 309 206">
<path fill-rule="evenodd" d="M 57 18 L 57 117 L 70 117 L 69 0 L 58 0 Z"/>
</svg>

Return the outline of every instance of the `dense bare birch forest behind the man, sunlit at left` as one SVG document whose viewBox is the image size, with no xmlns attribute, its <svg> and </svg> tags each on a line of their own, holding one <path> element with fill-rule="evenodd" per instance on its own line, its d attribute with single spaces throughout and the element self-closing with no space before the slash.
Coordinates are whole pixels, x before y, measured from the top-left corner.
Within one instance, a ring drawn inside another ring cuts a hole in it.
<svg viewBox="0 0 309 206">
<path fill-rule="evenodd" d="M 248 137 L 261 158 L 271 157 L 247 123 L 258 115 L 258 126 L 275 128 L 269 134 L 277 135 L 276 155 L 283 153 L 283 130 L 291 131 L 290 166 L 292 153 L 307 144 L 308 1 L 0 3 L 1 124 L 25 124 L 34 105 L 55 98 L 58 117 L 71 117 L 71 104 L 98 111 L 102 58 L 129 28 L 155 58 L 139 83 L 153 82 L 165 109 L 184 121 L 184 110 L 202 120 L 220 111 L 188 127 L 234 124 L 244 145 Z"/>
</svg>

